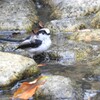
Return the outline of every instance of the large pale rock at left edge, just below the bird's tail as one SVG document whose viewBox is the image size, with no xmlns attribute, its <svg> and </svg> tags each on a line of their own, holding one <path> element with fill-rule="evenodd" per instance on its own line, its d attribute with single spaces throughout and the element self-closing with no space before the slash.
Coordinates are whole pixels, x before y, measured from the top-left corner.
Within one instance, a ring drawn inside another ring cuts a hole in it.
<svg viewBox="0 0 100 100">
<path fill-rule="evenodd" d="M 31 58 L 17 54 L 0 52 L 0 86 L 27 78 L 39 72 L 37 64 Z"/>
</svg>

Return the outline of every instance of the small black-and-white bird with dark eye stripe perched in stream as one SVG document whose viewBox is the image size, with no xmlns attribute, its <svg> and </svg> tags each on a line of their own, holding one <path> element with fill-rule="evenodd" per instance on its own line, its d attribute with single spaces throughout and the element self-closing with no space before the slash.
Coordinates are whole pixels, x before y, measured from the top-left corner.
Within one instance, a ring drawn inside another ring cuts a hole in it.
<svg viewBox="0 0 100 100">
<path fill-rule="evenodd" d="M 50 30 L 39 26 L 39 31 L 21 42 L 16 49 L 25 49 L 32 56 L 45 52 L 51 46 Z"/>
</svg>

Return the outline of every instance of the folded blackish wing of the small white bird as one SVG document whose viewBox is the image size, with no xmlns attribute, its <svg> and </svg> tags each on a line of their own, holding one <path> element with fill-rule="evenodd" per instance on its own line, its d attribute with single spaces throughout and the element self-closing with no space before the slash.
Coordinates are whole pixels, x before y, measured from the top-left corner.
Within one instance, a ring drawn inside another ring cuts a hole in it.
<svg viewBox="0 0 100 100">
<path fill-rule="evenodd" d="M 17 47 L 17 49 L 37 48 L 41 44 L 42 44 L 42 41 L 38 39 L 34 39 L 34 41 L 25 40 Z"/>
</svg>

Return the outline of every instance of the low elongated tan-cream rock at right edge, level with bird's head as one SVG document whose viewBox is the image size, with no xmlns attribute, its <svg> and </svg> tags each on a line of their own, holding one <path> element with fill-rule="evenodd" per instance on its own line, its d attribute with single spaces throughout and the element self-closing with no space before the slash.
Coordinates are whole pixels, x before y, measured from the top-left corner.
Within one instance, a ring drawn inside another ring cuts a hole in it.
<svg viewBox="0 0 100 100">
<path fill-rule="evenodd" d="M 100 41 L 100 30 L 80 30 L 78 32 L 74 32 L 69 36 L 70 39 L 75 41 L 84 41 L 84 42 L 99 42 Z"/>
</svg>

